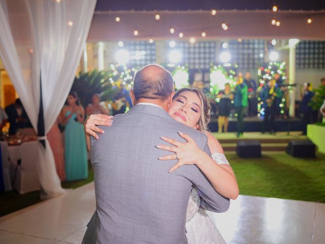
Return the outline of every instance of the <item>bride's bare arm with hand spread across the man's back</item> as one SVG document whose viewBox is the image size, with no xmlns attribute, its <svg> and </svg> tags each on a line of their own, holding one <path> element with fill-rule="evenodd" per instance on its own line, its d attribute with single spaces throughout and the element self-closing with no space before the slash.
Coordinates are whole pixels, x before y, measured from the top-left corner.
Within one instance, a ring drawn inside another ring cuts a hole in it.
<svg viewBox="0 0 325 244">
<path fill-rule="evenodd" d="M 179 133 L 187 142 L 181 143 L 170 138 L 161 138 L 174 146 L 158 145 L 160 149 L 174 151 L 178 155 L 178 162 L 170 172 L 184 164 L 196 164 L 211 182 L 213 188 L 226 198 L 236 199 L 239 188 L 234 171 L 230 165 L 217 164 L 209 155 L 201 150 L 195 141 L 188 135 Z M 222 147 L 212 134 L 207 133 L 208 145 L 212 154 L 223 154 Z M 160 157 L 160 160 L 173 160 L 174 155 Z M 220 163 L 220 162 L 219 162 Z"/>
</svg>

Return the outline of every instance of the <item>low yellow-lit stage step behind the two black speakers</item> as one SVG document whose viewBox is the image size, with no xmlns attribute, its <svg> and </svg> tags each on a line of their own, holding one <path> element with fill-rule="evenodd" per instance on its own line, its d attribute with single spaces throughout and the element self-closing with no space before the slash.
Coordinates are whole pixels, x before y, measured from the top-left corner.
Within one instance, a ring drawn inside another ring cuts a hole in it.
<svg viewBox="0 0 325 244">
<path fill-rule="evenodd" d="M 221 143 L 224 151 L 236 151 L 239 140 L 259 140 L 262 151 L 285 151 L 286 146 L 291 140 L 306 140 L 307 136 L 301 135 L 300 131 L 277 132 L 269 134 L 261 132 L 244 132 L 243 136 L 237 137 L 237 133 L 217 133 L 212 132 L 215 138 Z"/>
</svg>

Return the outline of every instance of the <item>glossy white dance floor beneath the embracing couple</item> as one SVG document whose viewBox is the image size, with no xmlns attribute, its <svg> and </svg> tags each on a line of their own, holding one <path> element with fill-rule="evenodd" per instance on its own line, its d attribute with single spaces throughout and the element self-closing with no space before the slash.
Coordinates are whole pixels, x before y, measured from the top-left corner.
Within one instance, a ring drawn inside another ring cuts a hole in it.
<svg viewBox="0 0 325 244">
<path fill-rule="evenodd" d="M 93 183 L 0 218 L 0 243 L 81 243 L 95 209 Z M 208 212 L 229 244 L 325 243 L 325 204 L 240 195 Z"/>
</svg>

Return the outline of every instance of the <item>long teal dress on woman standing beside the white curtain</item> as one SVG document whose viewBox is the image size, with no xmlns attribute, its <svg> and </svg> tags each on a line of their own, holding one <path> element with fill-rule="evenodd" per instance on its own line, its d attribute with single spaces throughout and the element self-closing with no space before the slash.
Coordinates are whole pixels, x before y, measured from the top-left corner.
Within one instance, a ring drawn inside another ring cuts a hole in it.
<svg viewBox="0 0 325 244">
<path fill-rule="evenodd" d="M 66 112 L 66 116 L 70 115 Z M 64 130 L 66 159 L 66 179 L 77 180 L 88 177 L 86 137 L 83 125 L 77 120 L 77 115 L 73 114 Z"/>
</svg>

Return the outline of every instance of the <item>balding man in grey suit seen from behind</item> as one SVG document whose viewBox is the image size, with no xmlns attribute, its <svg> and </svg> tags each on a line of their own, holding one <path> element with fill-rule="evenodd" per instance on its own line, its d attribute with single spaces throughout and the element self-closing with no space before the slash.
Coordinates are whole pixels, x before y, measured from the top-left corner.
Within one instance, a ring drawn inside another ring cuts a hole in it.
<svg viewBox="0 0 325 244">
<path fill-rule="evenodd" d="M 96 211 L 83 243 L 187 243 L 185 218 L 192 186 L 199 189 L 201 207 L 228 210 L 230 201 L 219 195 L 195 165 L 168 170 L 177 161 L 159 161 L 169 155 L 155 145 L 160 136 L 183 140 L 191 136 L 211 155 L 205 134 L 175 121 L 168 113 L 174 95 L 173 77 L 150 65 L 134 78 L 131 99 L 135 105 L 114 117 L 99 140 L 91 141 Z"/>
</svg>

